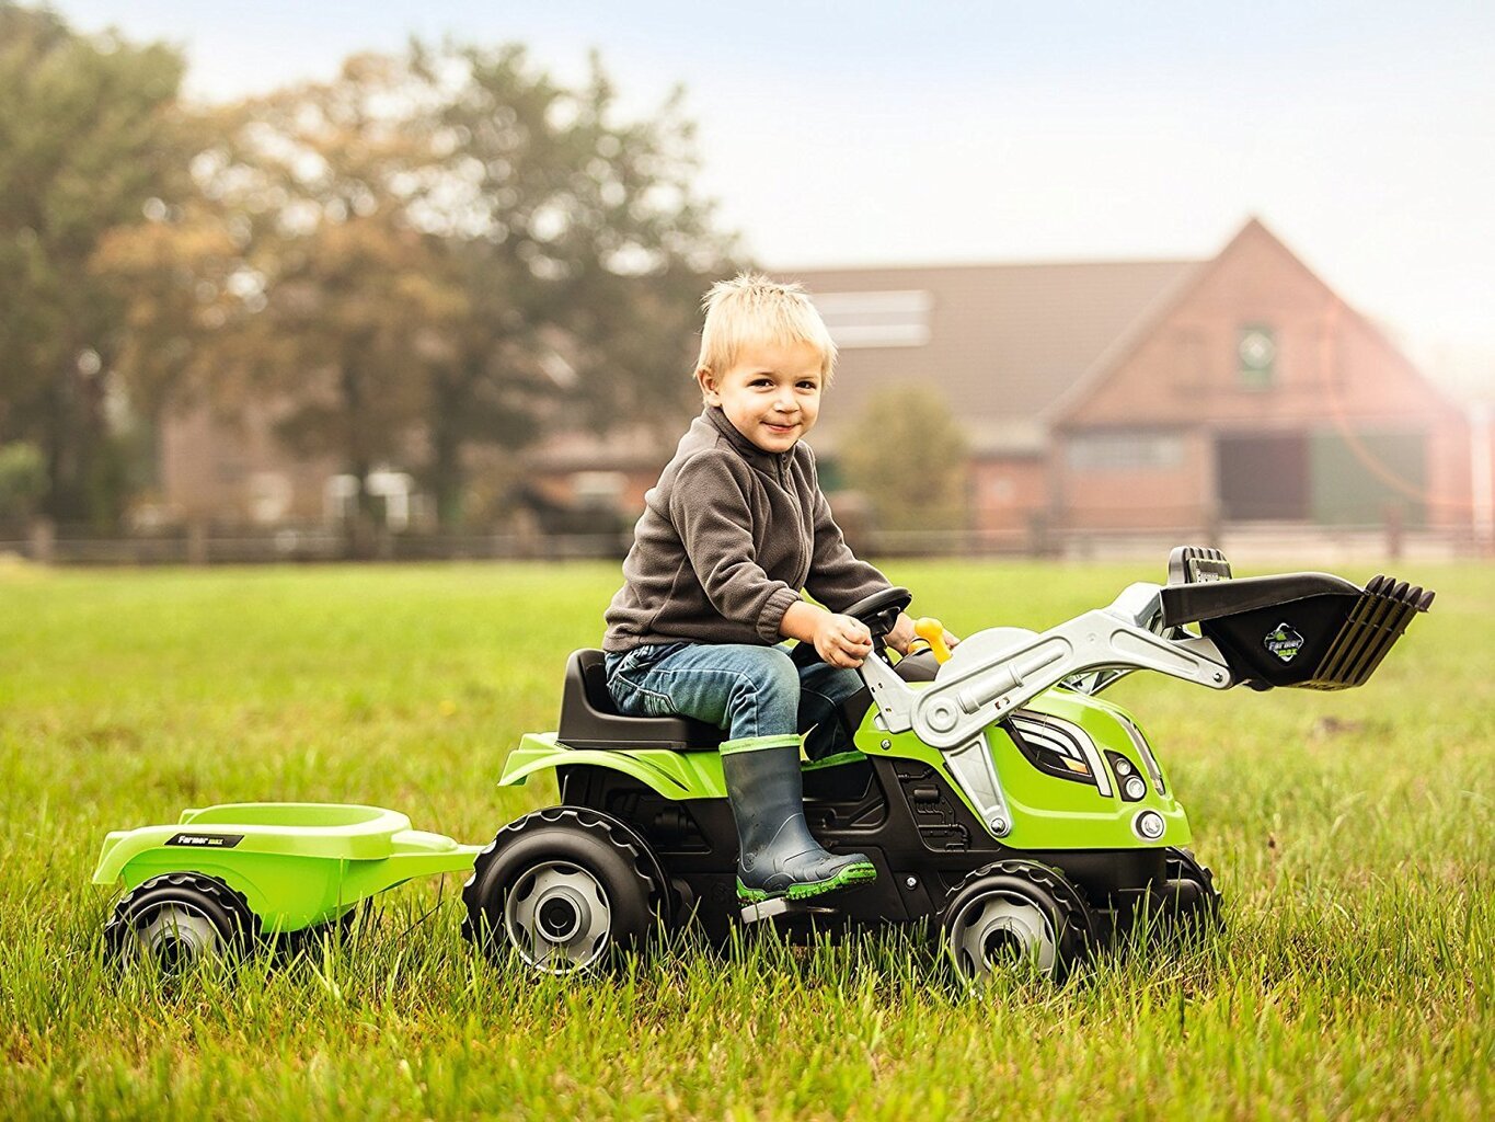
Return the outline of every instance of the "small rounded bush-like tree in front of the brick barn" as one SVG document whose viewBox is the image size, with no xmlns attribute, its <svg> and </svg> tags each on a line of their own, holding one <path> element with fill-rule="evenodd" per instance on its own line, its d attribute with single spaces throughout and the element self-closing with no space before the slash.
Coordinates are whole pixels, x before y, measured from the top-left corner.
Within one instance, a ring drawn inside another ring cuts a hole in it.
<svg viewBox="0 0 1495 1122">
<path fill-rule="evenodd" d="M 873 395 L 840 441 L 848 486 L 881 530 L 966 525 L 966 437 L 937 390 L 909 386 Z"/>
</svg>

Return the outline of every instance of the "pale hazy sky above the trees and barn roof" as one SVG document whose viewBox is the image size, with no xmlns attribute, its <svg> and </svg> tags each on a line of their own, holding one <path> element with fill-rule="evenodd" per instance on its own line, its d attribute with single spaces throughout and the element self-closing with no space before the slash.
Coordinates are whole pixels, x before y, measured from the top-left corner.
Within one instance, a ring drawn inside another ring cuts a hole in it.
<svg viewBox="0 0 1495 1122">
<path fill-rule="evenodd" d="M 1495 3 L 57 0 L 188 93 L 411 36 L 676 85 L 701 190 L 770 268 L 1209 257 L 1259 217 L 1434 377 L 1495 399 Z"/>
</svg>

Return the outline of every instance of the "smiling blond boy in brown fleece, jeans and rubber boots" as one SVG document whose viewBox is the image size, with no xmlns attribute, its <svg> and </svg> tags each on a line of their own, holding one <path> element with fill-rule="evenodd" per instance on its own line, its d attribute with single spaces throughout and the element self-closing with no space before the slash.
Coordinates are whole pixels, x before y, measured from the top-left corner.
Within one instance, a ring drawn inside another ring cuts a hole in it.
<svg viewBox="0 0 1495 1122">
<path fill-rule="evenodd" d="M 620 712 L 725 730 L 739 899 L 816 896 L 878 875 L 864 854 L 827 853 L 810 835 L 800 733 L 810 758 L 851 748 L 837 708 L 861 688 L 872 636 L 834 609 L 888 579 L 846 546 L 800 443 L 836 364 L 809 298 L 745 274 L 704 307 L 704 410 L 644 495 L 607 609 L 608 691 Z M 797 670 L 785 639 L 813 643 L 822 661 Z M 900 615 L 888 642 L 901 652 L 912 639 Z"/>
</svg>

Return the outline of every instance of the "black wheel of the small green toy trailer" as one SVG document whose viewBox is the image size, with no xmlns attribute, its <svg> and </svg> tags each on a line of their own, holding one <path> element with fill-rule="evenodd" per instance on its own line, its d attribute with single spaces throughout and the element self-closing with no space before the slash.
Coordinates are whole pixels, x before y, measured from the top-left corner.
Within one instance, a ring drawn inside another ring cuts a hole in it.
<svg viewBox="0 0 1495 1122">
<path fill-rule="evenodd" d="M 217 877 L 167 872 L 120 898 L 103 945 L 124 965 L 147 962 L 163 974 L 179 974 L 197 962 L 247 953 L 259 928 L 244 893 Z"/>
</svg>

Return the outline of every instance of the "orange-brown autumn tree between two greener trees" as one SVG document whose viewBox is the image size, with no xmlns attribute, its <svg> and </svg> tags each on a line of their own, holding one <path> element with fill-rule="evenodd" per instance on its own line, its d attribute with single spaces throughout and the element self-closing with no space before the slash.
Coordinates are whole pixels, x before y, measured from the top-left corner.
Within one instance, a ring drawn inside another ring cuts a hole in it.
<svg viewBox="0 0 1495 1122">
<path fill-rule="evenodd" d="M 359 482 L 357 554 L 368 477 L 413 455 L 451 299 L 410 218 L 435 157 L 405 94 L 396 61 L 360 55 L 333 82 L 215 111 L 191 203 L 100 256 L 130 280 L 141 399 L 277 414 L 293 452 L 330 453 Z"/>
</svg>

